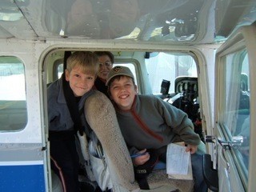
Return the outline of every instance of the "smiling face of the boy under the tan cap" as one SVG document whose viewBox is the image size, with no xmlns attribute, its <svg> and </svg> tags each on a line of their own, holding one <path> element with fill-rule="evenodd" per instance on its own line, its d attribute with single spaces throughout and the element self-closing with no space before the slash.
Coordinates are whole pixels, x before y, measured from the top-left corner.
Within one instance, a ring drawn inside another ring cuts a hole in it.
<svg viewBox="0 0 256 192">
<path fill-rule="evenodd" d="M 110 98 L 114 100 L 120 110 L 130 110 L 133 105 L 137 86 L 132 78 L 119 76 L 110 84 Z"/>
</svg>

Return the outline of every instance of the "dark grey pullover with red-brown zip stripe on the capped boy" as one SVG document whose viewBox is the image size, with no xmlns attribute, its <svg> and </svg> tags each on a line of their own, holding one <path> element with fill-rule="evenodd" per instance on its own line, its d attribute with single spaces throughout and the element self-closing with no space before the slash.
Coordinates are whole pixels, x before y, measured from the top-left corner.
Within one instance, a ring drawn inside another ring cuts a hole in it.
<svg viewBox="0 0 256 192">
<path fill-rule="evenodd" d="M 158 149 L 178 140 L 200 143 L 187 114 L 153 95 L 136 95 L 131 110 L 116 107 L 116 112 L 127 145 L 138 150 Z"/>
</svg>

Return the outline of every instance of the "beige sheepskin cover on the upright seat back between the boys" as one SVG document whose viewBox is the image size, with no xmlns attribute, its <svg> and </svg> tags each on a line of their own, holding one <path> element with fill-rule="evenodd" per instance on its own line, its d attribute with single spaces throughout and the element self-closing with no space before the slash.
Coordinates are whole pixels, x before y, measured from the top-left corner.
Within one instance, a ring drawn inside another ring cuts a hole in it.
<svg viewBox="0 0 256 192">
<path fill-rule="evenodd" d="M 85 115 L 91 129 L 102 143 L 113 185 L 120 185 L 127 190 L 138 189 L 130 154 L 110 100 L 105 94 L 96 91 L 86 99 Z"/>
</svg>

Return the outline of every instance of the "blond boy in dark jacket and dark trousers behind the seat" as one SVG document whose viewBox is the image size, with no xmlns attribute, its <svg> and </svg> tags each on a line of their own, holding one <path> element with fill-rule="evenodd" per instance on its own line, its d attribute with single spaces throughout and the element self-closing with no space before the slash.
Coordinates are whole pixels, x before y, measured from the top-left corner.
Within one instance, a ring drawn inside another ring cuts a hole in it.
<svg viewBox="0 0 256 192">
<path fill-rule="evenodd" d="M 53 82 L 47 89 L 48 122 L 51 168 L 62 180 L 64 190 L 79 191 L 79 158 L 75 145 L 75 127 L 68 104 L 82 111 L 86 98 L 93 94 L 94 81 L 98 73 L 98 57 L 90 51 L 78 51 L 66 61 L 62 78 Z M 81 126 L 86 135 L 86 119 L 81 114 Z M 63 183 L 64 182 L 64 183 Z"/>
</svg>

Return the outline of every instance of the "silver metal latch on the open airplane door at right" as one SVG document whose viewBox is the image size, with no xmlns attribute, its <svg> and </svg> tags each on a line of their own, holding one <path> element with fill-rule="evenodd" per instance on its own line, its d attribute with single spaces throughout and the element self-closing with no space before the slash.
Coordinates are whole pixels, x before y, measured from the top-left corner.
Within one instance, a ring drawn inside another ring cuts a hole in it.
<svg viewBox="0 0 256 192">
<path fill-rule="evenodd" d="M 242 136 L 234 136 L 232 137 L 231 142 L 223 141 L 221 139 L 216 138 L 212 135 L 206 135 L 205 136 L 206 142 L 218 142 L 224 150 L 230 150 L 231 148 L 238 149 L 240 146 L 242 146 L 242 143 L 244 142 L 244 138 Z"/>
</svg>

